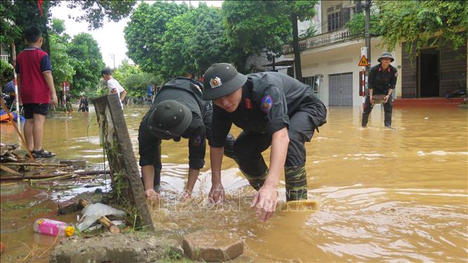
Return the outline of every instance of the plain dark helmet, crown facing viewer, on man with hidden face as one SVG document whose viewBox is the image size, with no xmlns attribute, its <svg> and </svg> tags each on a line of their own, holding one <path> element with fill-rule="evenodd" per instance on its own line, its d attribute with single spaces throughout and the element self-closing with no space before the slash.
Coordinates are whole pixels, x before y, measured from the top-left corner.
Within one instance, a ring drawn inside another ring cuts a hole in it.
<svg viewBox="0 0 468 263">
<path fill-rule="evenodd" d="M 186 105 L 172 100 L 161 101 L 149 115 L 148 129 L 160 139 L 176 138 L 189 127 L 191 118 Z"/>
</svg>

